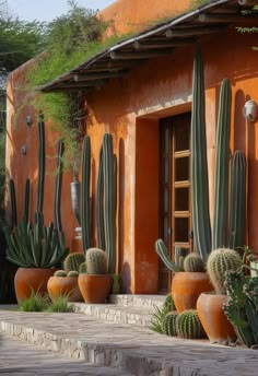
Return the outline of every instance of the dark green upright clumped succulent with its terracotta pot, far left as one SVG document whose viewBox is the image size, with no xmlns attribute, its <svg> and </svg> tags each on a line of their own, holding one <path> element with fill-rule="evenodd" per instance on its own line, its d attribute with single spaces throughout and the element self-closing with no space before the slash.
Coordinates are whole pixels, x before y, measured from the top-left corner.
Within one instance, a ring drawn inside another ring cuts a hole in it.
<svg viewBox="0 0 258 376">
<path fill-rule="evenodd" d="M 60 262 L 68 255 L 64 234 L 54 227 L 44 226 L 42 213 L 36 213 L 34 223 L 26 219 L 11 232 L 4 227 L 8 243 L 7 259 L 19 266 L 14 278 L 19 302 L 30 297 L 32 291 L 42 295 L 47 293 L 47 281 L 55 273 Z"/>
</svg>

